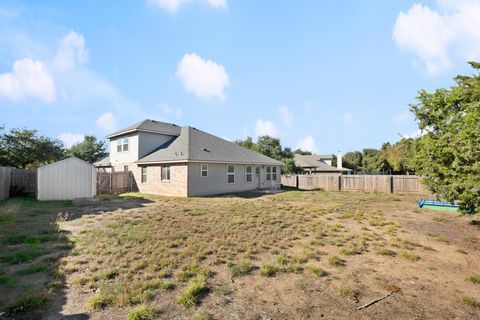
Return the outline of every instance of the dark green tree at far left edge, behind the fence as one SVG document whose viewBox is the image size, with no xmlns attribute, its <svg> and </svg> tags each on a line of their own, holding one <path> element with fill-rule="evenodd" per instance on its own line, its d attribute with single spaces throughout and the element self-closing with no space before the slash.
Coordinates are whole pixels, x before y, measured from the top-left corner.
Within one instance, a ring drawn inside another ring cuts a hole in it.
<svg viewBox="0 0 480 320">
<path fill-rule="evenodd" d="M 0 128 L 0 165 L 39 167 L 64 156 L 63 143 L 38 134 L 37 130 Z"/>
</svg>

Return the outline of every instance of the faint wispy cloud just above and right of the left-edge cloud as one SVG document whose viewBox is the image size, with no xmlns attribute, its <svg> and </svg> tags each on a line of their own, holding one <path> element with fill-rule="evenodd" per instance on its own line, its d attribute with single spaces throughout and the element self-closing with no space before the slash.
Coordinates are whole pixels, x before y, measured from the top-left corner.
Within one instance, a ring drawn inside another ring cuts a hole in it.
<svg viewBox="0 0 480 320">
<path fill-rule="evenodd" d="M 79 33 L 70 31 L 60 42 L 52 65 L 59 70 L 68 70 L 74 68 L 77 63 L 85 63 L 87 59 L 85 38 Z"/>
</svg>

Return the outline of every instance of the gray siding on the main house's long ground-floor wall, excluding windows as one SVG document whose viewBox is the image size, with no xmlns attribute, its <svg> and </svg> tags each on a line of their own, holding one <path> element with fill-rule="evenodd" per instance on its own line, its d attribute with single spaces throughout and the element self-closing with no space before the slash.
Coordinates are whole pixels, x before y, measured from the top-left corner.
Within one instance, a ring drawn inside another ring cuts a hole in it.
<svg viewBox="0 0 480 320">
<path fill-rule="evenodd" d="M 200 174 L 201 163 L 189 163 L 188 165 L 188 195 L 205 196 L 214 194 L 223 194 L 230 192 L 240 192 L 257 189 L 255 165 L 253 169 L 253 181 L 245 181 L 245 165 L 235 165 L 235 183 L 227 183 L 227 165 L 218 163 L 208 164 L 208 176 L 202 177 Z M 259 166 L 261 168 L 261 166 Z M 277 180 L 273 182 L 276 188 L 280 187 L 280 166 L 277 167 Z M 260 188 L 271 188 L 272 182 L 266 181 L 265 168 L 261 169 Z"/>
</svg>

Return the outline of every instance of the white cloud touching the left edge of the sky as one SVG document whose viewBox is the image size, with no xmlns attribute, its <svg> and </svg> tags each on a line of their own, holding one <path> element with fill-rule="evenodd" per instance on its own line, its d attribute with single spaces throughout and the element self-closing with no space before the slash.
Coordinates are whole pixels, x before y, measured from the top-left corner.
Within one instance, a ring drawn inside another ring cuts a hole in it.
<svg viewBox="0 0 480 320">
<path fill-rule="evenodd" d="M 56 87 L 42 61 L 22 59 L 14 62 L 12 72 L 0 74 L 0 96 L 14 102 L 29 97 L 54 102 Z"/>
</svg>

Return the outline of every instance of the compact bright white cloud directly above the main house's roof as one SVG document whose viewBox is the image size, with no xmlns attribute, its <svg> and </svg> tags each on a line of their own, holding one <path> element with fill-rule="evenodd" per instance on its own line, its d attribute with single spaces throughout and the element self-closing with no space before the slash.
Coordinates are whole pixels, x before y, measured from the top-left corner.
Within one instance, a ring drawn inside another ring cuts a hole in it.
<svg viewBox="0 0 480 320">
<path fill-rule="evenodd" d="M 212 60 L 204 60 L 196 53 L 185 54 L 178 63 L 175 76 L 187 92 L 198 97 L 216 97 L 225 100 L 225 88 L 230 84 L 225 68 Z"/>
</svg>

